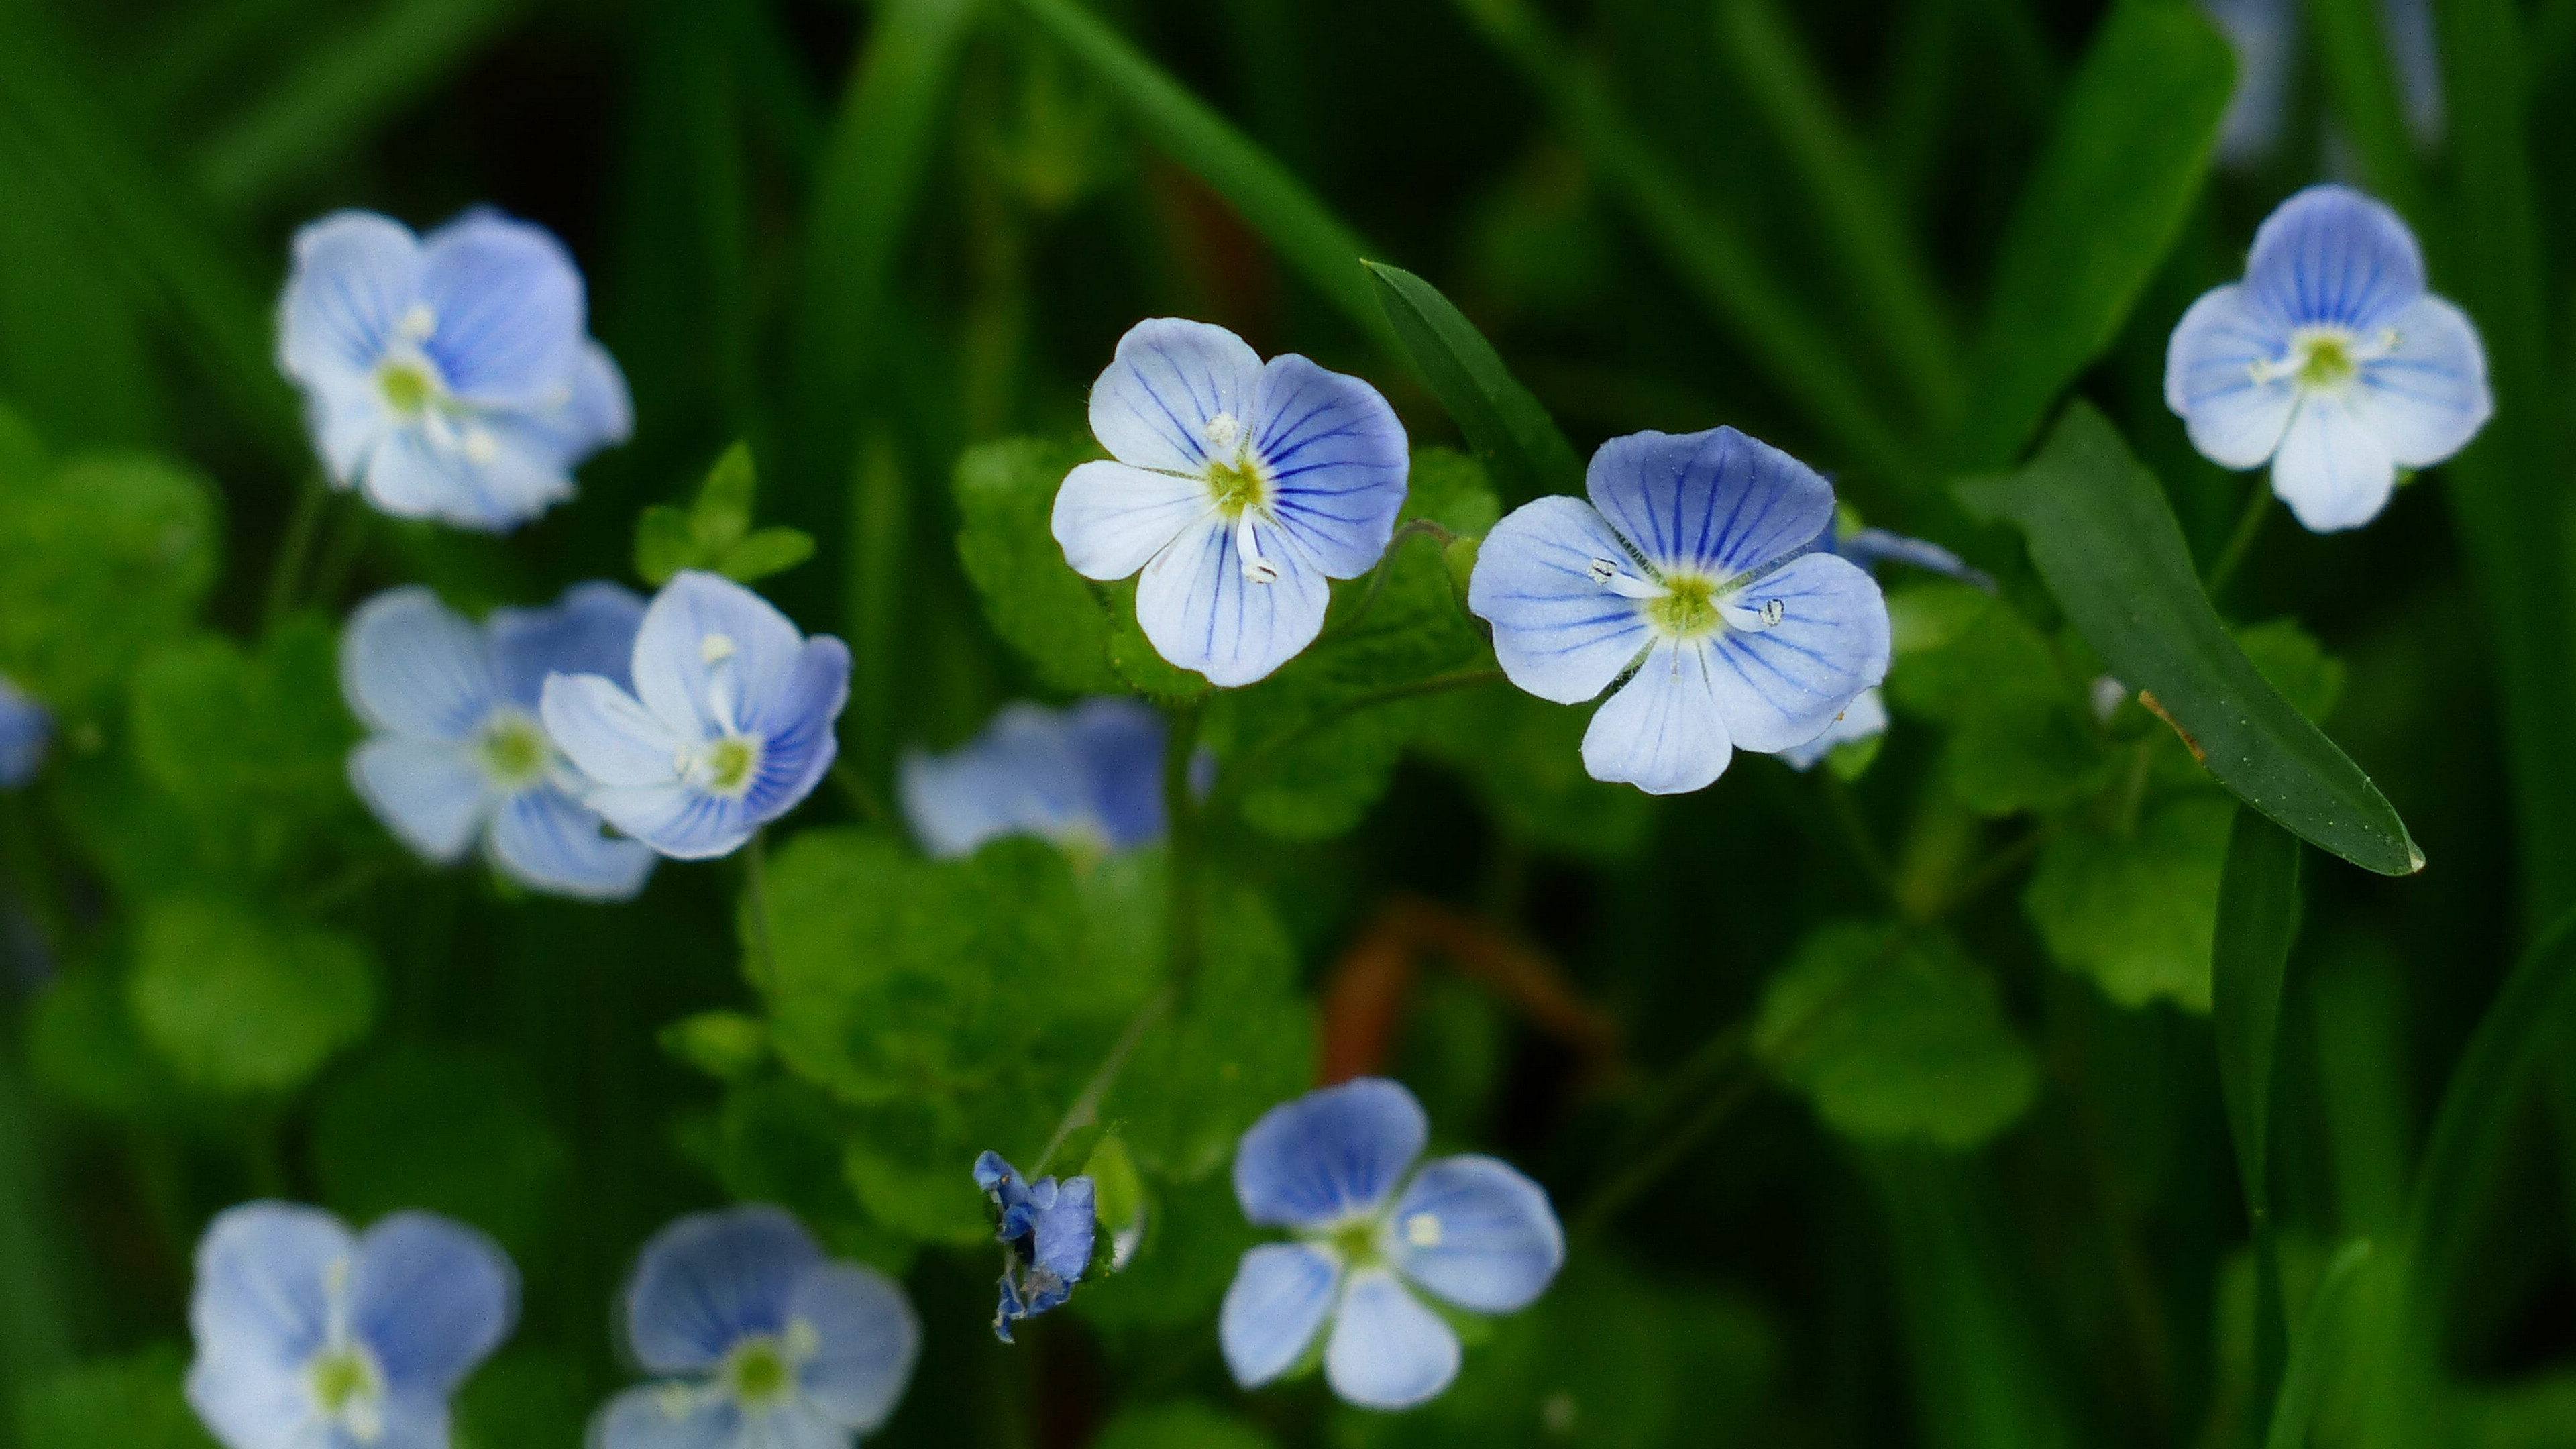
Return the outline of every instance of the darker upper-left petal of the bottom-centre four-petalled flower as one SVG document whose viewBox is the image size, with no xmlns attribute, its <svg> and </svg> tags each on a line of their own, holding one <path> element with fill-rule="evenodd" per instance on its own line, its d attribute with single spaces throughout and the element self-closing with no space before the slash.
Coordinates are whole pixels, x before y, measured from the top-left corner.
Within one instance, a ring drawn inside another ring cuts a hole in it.
<svg viewBox="0 0 2576 1449">
<path fill-rule="evenodd" d="M 1376 1212 L 1422 1155 L 1430 1122 L 1399 1083 L 1355 1078 L 1265 1111 L 1234 1150 L 1234 1196 L 1262 1227 Z"/>
</svg>

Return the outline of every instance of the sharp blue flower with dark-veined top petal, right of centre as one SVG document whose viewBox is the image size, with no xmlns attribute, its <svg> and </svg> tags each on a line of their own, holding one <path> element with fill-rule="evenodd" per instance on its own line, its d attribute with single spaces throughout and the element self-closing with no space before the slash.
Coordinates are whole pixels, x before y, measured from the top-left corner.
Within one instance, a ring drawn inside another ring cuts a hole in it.
<svg viewBox="0 0 2576 1449">
<path fill-rule="evenodd" d="M 1734 428 L 1633 433 L 1592 454 L 1582 498 L 1540 498 L 1486 534 L 1468 608 L 1520 688 L 1582 704 L 1592 779 L 1700 789 L 1734 750 L 1821 735 L 1888 673 L 1868 572 L 1814 552 L 1834 490 Z"/>
</svg>

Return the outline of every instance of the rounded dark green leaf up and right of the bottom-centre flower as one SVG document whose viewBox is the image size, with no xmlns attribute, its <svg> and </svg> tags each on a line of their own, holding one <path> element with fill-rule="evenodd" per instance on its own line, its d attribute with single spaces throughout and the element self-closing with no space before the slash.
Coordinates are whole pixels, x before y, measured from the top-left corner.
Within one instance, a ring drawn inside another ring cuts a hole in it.
<svg viewBox="0 0 2576 1449">
<path fill-rule="evenodd" d="M 1754 1016 L 1754 1057 L 1862 1142 L 1973 1147 L 2030 1109 L 2040 1073 L 1994 977 L 1940 933 L 1816 928 Z"/>
</svg>

